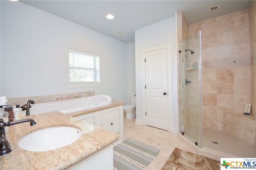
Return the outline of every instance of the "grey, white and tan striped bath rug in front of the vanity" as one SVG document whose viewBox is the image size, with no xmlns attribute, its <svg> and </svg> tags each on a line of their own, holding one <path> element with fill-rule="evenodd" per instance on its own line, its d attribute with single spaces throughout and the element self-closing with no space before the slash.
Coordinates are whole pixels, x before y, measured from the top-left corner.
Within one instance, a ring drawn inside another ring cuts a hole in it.
<svg viewBox="0 0 256 170">
<path fill-rule="evenodd" d="M 114 170 L 144 170 L 161 149 L 134 139 L 126 139 L 113 147 Z"/>
</svg>

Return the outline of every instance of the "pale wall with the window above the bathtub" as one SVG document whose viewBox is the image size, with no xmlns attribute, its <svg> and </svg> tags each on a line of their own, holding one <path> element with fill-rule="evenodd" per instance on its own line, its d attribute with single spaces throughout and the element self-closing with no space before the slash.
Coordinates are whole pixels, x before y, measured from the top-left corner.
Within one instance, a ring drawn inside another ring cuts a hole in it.
<svg viewBox="0 0 256 170">
<path fill-rule="evenodd" d="M 95 91 L 96 95 L 107 94 L 127 102 L 126 67 L 131 63 L 126 64 L 126 55 L 132 55 L 126 52 L 126 43 L 21 2 L 10 1 L 1 1 L 0 36 L 0 96 Z M 127 45 L 132 50 L 130 46 L 132 43 Z M 67 87 L 68 48 L 100 55 L 102 87 Z M 132 79 L 130 73 L 128 76 Z"/>
</svg>

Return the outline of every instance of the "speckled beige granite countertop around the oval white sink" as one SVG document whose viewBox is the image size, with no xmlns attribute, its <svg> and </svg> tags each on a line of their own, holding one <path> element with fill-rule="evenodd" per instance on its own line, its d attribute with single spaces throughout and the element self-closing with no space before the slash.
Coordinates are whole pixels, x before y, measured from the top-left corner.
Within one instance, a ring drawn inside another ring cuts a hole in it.
<svg viewBox="0 0 256 170">
<path fill-rule="evenodd" d="M 118 103 L 120 105 L 120 102 Z M 115 102 L 113 102 L 113 105 L 115 106 Z M 112 106 L 112 104 L 110 104 L 110 106 L 114 107 Z M 87 113 L 87 111 L 85 112 Z M 91 156 L 95 152 L 104 149 L 105 147 L 111 145 L 118 140 L 119 136 L 116 133 L 112 133 L 100 127 L 93 126 L 94 130 L 89 131 L 88 133 L 84 133 L 86 129 L 84 129 L 83 127 L 86 124 L 88 125 L 88 123 L 74 117 L 70 117 L 70 114 L 63 114 L 58 111 L 53 111 L 38 115 L 30 115 L 22 119 L 33 119 L 34 121 L 36 121 L 36 125 L 30 126 L 30 123 L 26 122 L 10 126 L 9 133 L 6 134 L 6 137 L 11 145 L 12 152 L 0 156 L 1 169 L 65 169 L 80 162 L 84 158 Z M 40 129 L 56 126 L 76 127 L 82 130 L 84 134 L 82 134 L 82 136 L 74 143 L 55 150 L 49 150 L 44 152 L 31 152 L 21 149 L 18 146 L 18 140 L 24 135 Z"/>
</svg>

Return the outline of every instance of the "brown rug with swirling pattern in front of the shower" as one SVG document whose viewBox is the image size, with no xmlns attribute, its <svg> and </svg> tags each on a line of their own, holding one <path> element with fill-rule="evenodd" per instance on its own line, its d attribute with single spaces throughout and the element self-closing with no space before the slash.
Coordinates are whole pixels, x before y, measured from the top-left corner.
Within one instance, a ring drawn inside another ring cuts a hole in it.
<svg viewBox="0 0 256 170">
<path fill-rule="evenodd" d="M 220 170 L 220 161 L 175 148 L 161 170 Z"/>
</svg>

